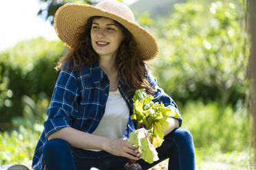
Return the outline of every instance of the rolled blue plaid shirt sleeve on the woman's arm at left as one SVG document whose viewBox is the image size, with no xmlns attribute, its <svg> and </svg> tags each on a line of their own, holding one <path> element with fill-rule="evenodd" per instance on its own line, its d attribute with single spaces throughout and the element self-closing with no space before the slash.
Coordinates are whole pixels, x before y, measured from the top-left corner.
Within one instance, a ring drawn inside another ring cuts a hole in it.
<svg viewBox="0 0 256 170">
<path fill-rule="evenodd" d="M 78 82 L 76 72 L 65 70 L 63 65 L 56 81 L 50 107 L 46 109 L 44 123 L 45 138 L 63 127 L 70 127 L 70 121 L 78 113 Z"/>
</svg>

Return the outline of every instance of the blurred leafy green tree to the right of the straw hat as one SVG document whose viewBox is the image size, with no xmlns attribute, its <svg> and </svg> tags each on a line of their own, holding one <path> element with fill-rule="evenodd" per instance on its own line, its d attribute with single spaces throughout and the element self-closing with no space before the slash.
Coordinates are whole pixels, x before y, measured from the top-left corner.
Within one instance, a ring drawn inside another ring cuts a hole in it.
<svg viewBox="0 0 256 170">
<path fill-rule="evenodd" d="M 182 104 L 202 99 L 235 106 L 248 95 L 248 38 L 242 4 L 187 2 L 149 27 L 160 53 L 151 62 L 159 85 Z"/>
</svg>

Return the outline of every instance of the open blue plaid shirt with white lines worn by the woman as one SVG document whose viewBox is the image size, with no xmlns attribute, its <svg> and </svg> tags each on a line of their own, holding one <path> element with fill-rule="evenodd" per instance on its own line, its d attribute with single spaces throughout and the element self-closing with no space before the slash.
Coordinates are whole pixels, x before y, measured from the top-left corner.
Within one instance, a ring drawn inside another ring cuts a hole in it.
<svg viewBox="0 0 256 170">
<path fill-rule="evenodd" d="M 66 71 L 66 68 L 67 66 L 64 65 L 61 69 L 54 87 L 50 107 L 46 110 L 48 118 L 44 123 L 44 130 L 34 151 L 33 169 L 43 169 L 43 145 L 50 134 L 63 127 L 74 127 L 76 130 L 92 133 L 105 112 L 109 95 L 109 80 L 98 62 L 83 66 L 80 71 Z M 165 106 L 170 106 L 178 111 L 173 99 L 157 86 L 156 78 L 148 73 L 147 80 L 153 88 L 157 89 L 153 101 L 162 101 Z M 127 88 L 122 77 L 119 77 L 118 89 L 125 99 L 131 115 L 134 91 Z M 181 125 L 182 119 L 179 121 Z M 123 137 L 128 138 L 129 133 L 134 129 L 134 123 L 129 118 Z"/>
</svg>

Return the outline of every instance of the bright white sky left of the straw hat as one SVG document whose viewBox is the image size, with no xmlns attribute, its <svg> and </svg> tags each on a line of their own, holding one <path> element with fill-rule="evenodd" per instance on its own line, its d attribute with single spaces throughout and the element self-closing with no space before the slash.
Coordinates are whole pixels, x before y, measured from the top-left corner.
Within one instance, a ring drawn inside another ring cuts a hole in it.
<svg viewBox="0 0 256 170">
<path fill-rule="evenodd" d="M 39 36 L 49 40 L 56 38 L 52 25 L 37 16 L 37 12 L 39 2 L 36 0 L 1 1 L 0 50 L 14 46 L 19 40 Z"/>
</svg>

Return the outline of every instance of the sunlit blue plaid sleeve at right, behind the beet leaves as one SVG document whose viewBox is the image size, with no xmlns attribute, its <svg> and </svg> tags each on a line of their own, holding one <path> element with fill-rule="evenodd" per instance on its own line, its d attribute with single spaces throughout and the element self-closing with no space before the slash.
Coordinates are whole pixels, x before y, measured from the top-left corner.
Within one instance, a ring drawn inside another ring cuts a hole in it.
<svg viewBox="0 0 256 170">
<path fill-rule="evenodd" d="M 159 103 L 162 102 L 162 104 L 164 104 L 164 106 L 166 106 L 166 107 L 169 107 L 171 109 L 171 111 L 179 113 L 178 106 L 175 104 L 175 101 L 173 99 L 171 99 L 171 97 L 169 97 L 169 95 L 164 93 L 164 90 L 158 86 L 156 78 L 153 77 L 153 75 L 151 75 L 151 73 L 149 73 L 149 71 L 147 72 L 147 81 L 149 82 L 149 84 L 151 85 L 152 88 L 156 89 L 156 92 L 154 93 L 153 102 L 156 102 L 156 101 L 158 101 Z M 175 117 L 173 117 L 173 118 L 176 119 Z M 179 117 L 178 121 L 181 126 L 182 118 Z"/>
</svg>

